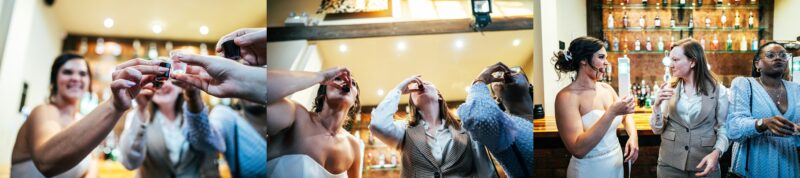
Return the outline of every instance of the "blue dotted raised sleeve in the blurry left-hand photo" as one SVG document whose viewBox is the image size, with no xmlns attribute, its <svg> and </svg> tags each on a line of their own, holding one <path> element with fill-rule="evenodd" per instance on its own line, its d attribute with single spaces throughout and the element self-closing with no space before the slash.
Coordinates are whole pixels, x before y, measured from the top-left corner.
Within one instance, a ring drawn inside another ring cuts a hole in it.
<svg viewBox="0 0 800 178">
<path fill-rule="evenodd" d="M 184 103 L 183 117 L 186 120 L 183 132 L 189 144 L 205 152 L 225 152 L 225 140 L 218 126 L 215 127 L 208 120 L 208 107 L 203 107 L 199 113 L 192 113 Z"/>
</svg>

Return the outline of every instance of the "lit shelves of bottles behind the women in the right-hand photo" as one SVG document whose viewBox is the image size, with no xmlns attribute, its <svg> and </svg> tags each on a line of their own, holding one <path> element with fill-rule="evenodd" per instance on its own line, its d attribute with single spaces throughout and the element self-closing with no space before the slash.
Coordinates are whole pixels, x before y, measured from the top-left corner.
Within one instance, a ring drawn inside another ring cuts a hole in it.
<svg viewBox="0 0 800 178">
<path fill-rule="evenodd" d="M 756 0 L 602 0 L 599 31 L 607 43 L 606 70 L 616 70 L 616 60 L 630 59 L 631 92 L 640 107 L 657 86 L 669 78 L 663 65 L 674 42 L 694 38 L 703 46 L 711 70 L 724 85 L 736 76 L 749 75 L 754 51 L 771 38 L 765 6 Z M 600 15 L 600 14 L 590 14 Z M 594 18 L 596 19 L 596 18 Z M 599 23 L 597 24 L 599 25 Z M 601 80 L 615 88 L 616 73 Z"/>
</svg>

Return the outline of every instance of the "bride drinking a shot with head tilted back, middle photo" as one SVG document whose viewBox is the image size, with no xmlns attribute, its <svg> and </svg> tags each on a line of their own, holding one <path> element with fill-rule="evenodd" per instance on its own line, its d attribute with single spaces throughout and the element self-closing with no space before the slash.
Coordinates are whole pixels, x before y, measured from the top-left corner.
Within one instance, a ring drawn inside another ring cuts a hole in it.
<svg viewBox="0 0 800 178">
<path fill-rule="evenodd" d="M 360 178 L 362 144 L 343 126 L 359 114 L 358 84 L 346 68 L 276 71 L 267 86 L 267 177 Z M 313 108 L 287 98 L 320 84 Z"/>
</svg>

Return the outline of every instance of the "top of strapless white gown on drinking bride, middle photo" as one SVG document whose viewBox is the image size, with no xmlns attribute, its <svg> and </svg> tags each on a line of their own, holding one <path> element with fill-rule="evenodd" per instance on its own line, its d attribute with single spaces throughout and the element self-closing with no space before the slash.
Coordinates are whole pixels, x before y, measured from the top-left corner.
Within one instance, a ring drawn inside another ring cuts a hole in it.
<svg viewBox="0 0 800 178">
<path fill-rule="evenodd" d="M 267 161 L 269 178 L 347 178 L 347 171 L 331 174 L 314 159 L 304 154 L 283 155 Z"/>
</svg>

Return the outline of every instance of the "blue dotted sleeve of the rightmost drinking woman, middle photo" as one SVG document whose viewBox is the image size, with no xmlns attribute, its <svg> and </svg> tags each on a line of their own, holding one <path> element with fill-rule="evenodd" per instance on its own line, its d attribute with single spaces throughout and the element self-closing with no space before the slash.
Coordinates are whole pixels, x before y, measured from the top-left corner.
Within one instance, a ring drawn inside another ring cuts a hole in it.
<svg viewBox="0 0 800 178">
<path fill-rule="evenodd" d="M 511 117 L 500 110 L 483 83 L 473 84 L 467 100 L 458 107 L 463 127 L 494 153 L 508 149 L 517 135 Z"/>
</svg>

